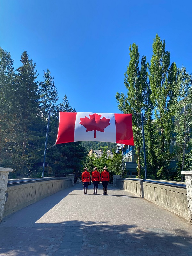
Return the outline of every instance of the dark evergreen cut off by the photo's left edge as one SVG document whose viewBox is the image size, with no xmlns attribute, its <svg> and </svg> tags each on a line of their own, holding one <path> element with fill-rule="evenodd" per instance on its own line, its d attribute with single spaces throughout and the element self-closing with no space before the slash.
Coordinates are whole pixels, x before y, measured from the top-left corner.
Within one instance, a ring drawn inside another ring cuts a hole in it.
<svg viewBox="0 0 192 256">
<path fill-rule="evenodd" d="M 0 47 L 0 166 L 3 167 L 12 167 L 14 76 L 11 55 Z"/>
</svg>

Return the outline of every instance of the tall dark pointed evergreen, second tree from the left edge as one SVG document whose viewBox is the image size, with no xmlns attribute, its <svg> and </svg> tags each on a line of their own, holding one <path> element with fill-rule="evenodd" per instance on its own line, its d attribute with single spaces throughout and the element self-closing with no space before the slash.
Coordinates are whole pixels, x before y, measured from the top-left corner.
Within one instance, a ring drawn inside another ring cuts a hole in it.
<svg viewBox="0 0 192 256">
<path fill-rule="evenodd" d="M 15 78 L 16 95 L 15 109 L 16 137 L 14 164 L 27 173 L 32 173 L 34 163 L 38 161 L 37 148 L 39 140 L 43 137 L 41 131 L 41 116 L 39 113 L 39 87 L 36 82 L 37 71 L 35 63 L 29 60 L 28 54 L 24 51 L 21 55 L 22 66 L 17 69 Z"/>
</svg>

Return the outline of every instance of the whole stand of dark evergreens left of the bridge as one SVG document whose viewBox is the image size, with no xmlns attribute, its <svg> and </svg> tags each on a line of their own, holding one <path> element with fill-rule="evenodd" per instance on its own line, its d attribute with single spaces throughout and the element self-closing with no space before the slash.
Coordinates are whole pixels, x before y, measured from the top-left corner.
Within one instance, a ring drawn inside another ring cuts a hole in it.
<svg viewBox="0 0 192 256">
<path fill-rule="evenodd" d="M 44 177 L 60 176 L 80 170 L 87 152 L 81 142 L 55 144 L 58 129 L 58 110 L 72 111 L 67 96 L 56 104 L 58 93 L 50 71 L 44 72 L 44 81 L 37 82 L 35 63 L 26 51 L 22 65 L 14 73 L 10 53 L 0 48 L 0 166 L 14 169 L 13 178 L 41 177 L 39 166 L 44 156 L 47 113 L 51 120 L 47 144 Z M 10 176 L 11 177 L 11 176 Z"/>
</svg>

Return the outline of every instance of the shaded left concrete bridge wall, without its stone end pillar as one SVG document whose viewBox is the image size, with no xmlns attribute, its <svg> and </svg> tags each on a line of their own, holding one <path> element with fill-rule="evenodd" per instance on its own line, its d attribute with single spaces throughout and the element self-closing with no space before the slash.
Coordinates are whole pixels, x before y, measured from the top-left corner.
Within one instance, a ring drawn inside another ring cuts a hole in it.
<svg viewBox="0 0 192 256">
<path fill-rule="evenodd" d="M 23 183 L 9 184 L 6 190 L 3 217 L 16 212 L 44 197 L 72 186 L 70 178 L 18 179 Z M 28 180 L 31 180 L 28 181 Z M 9 180 L 14 182 L 15 180 Z"/>
</svg>

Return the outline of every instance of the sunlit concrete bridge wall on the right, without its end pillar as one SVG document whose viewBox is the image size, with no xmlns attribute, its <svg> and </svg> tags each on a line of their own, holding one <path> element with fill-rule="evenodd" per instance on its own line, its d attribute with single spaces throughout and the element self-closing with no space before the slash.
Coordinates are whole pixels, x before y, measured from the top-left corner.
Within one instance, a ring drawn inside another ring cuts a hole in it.
<svg viewBox="0 0 192 256">
<path fill-rule="evenodd" d="M 116 187 L 127 190 L 137 196 L 147 199 L 154 204 L 164 207 L 165 209 L 178 214 L 179 216 L 190 220 L 188 214 L 188 200 L 187 191 L 184 182 L 169 182 L 162 181 L 162 183 L 170 183 L 169 185 L 155 183 L 155 180 L 150 183 L 150 180 L 142 179 L 117 179 Z M 175 183 L 171 185 L 171 183 Z M 183 188 L 176 187 L 180 184 Z"/>
</svg>

